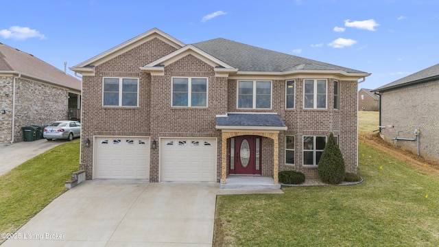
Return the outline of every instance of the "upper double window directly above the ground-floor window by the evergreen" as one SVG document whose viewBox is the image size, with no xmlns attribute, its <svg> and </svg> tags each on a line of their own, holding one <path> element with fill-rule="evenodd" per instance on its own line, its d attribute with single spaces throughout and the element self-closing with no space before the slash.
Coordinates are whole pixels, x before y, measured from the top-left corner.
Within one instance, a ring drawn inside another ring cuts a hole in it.
<svg viewBox="0 0 439 247">
<path fill-rule="evenodd" d="M 327 80 L 305 79 L 304 108 L 327 108 Z"/>
</svg>

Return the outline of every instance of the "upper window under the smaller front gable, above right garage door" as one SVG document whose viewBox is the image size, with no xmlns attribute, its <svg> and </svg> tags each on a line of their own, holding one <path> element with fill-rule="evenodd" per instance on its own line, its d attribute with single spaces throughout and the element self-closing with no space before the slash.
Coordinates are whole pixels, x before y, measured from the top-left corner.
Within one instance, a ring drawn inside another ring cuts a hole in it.
<svg viewBox="0 0 439 247">
<path fill-rule="evenodd" d="M 172 78 L 172 106 L 207 107 L 207 78 Z"/>
</svg>

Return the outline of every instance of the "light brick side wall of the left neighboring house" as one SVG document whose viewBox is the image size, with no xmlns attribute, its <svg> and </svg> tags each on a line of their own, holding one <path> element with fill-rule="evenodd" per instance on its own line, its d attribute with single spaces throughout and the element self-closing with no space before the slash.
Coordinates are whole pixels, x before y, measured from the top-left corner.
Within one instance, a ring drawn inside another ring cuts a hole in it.
<svg viewBox="0 0 439 247">
<path fill-rule="evenodd" d="M 12 141 L 12 76 L 0 77 L 0 143 Z M 67 120 L 69 92 L 58 86 L 16 78 L 14 142 L 23 141 L 24 126 L 44 126 L 56 120 Z M 8 95 L 8 96 L 6 96 Z"/>
</svg>

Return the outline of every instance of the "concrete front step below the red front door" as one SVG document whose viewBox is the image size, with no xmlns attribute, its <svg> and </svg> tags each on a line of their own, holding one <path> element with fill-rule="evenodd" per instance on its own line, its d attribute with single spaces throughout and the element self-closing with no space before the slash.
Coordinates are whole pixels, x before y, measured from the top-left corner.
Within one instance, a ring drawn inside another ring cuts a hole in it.
<svg viewBox="0 0 439 247">
<path fill-rule="evenodd" d="M 219 182 L 221 189 L 281 189 L 275 185 L 273 178 L 261 176 L 228 176 L 226 183 Z"/>
</svg>

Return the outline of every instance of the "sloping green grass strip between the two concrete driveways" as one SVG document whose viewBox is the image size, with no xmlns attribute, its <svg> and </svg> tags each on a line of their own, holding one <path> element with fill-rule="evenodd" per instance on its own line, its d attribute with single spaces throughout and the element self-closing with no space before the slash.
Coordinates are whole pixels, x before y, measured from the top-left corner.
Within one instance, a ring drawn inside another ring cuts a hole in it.
<svg viewBox="0 0 439 247">
<path fill-rule="evenodd" d="M 79 169 L 79 152 L 78 139 L 40 154 L 0 176 L 0 233 L 14 233 L 66 191 L 64 182 Z"/>
</svg>

